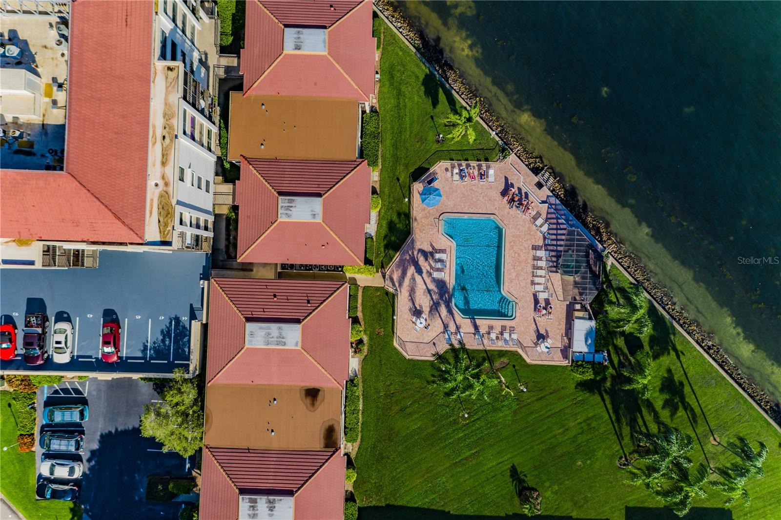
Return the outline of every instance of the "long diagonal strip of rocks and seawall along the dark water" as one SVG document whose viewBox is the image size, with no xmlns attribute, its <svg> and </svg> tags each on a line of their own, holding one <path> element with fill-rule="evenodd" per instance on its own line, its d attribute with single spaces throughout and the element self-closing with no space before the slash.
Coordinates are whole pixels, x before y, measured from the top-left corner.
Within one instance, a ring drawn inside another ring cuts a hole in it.
<svg viewBox="0 0 781 520">
<path fill-rule="evenodd" d="M 472 87 L 469 87 L 469 85 L 465 83 L 460 73 L 458 73 L 458 69 L 455 69 L 451 63 L 444 58 L 442 49 L 426 38 L 426 35 L 423 34 L 423 30 L 419 29 L 419 27 L 415 27 L 398 11 L 398 9 L 386 0 L 375 0 L 374 5 L 376 6 L 376 9 L 382 12 L 383 15 L 394 24 L 394 27 L 407 38 L 419 54 L 426 59 L 430 66 L 432 66 L 448 84 L 450 84 L 453 91 L 458 93 L 465 102 L 471 105 L 476 101 L 480 101 L 480 96 Z M 486 108 L 485 103 L 480 103 L 480 117 L 487 126 L 497 134 L 501 141 L 504 141 L 508 148 L 515 151 L 515 155 L 526 163 L 526 166 L 533 173 L 539 174 L 543 169 L 547 169 L 548 173 L 552 173 L 555 176 L 555 169 L 551 165 L 546 165 L 539 155 L 530 151 L 525 140 L 513 135 L 507 130 L 501 119 Z M 722 347 L 714 343 L 712 334 L 706 333 L 699 323 L 686 315 L 683 308 L 679 308 L 679 306 L 676 305 L 675 298 L 672 297 L 669 290 L 654 283 L 654 280 L 651 280 L 651 276 L 642 262 L 640 262 L 640 259 L 616 240 L 615 236 L 613 236 L 610 231 L 608 223 L 606 223 L 604 219 L 597 217 L 597 215 L 588 212 L 587 205 L 580 200 L 575 188 L 572 186 L 565 186 L 556 180 L 551 187 L 551 192 L 555 194 L 556 198 L 558 198 L 567 209 L 569 209 L 569 212 L 571 212 L 576 219 L 580 220 L 580 223 L 583 223 L 583 226 L 594 235 L 594 238 L 604 246 L 606 251 L 609 251 L 612 258 L 616 262 L 619 262 L 635 280 L 640 282 L 647 293 L 650 294 L 651 297 L 669 313 L 669 315 L 672 315 L 679 326 L 686 330 L 686 333 L 697 341 L 697 344 L 699 344 L 700 347 L 707 352 L 741 388 L 743 388 L 746 394 L 765 410 L 773 421 L 781 425 L 781 405 L 766 394 L 757 383 L 740 371 L 732 360 L 729 359 L 729 356 L 722 350 Z"/>
</svg>

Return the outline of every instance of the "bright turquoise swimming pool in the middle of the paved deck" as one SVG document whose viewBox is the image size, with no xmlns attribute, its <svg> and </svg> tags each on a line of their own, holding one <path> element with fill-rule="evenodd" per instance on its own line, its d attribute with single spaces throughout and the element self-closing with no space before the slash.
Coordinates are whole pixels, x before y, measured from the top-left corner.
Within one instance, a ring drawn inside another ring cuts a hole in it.
<svg viewBox="0 0 781 520">
<path fill-rule="evenodd" d="M 505 228 L 490 217 L 448 216 L 442 222 L 442 233 L 455 244 L 455 310 L 464 318 L 514 319 L 515 301 L 502 291 Z"/>
</svg>

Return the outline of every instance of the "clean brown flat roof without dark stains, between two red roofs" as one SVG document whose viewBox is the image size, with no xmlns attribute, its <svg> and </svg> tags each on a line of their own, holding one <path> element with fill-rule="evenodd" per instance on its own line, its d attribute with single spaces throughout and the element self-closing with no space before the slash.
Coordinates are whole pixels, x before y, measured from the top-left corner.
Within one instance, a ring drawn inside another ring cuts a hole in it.
<svg viewBox="0 0 781 520">
<path fill-rule="evenodd" d="M 228 135 L 231 161 L 241 155 L 352 161 L 358 155 L 358 103 L 231 92 Z"/>
</svg>

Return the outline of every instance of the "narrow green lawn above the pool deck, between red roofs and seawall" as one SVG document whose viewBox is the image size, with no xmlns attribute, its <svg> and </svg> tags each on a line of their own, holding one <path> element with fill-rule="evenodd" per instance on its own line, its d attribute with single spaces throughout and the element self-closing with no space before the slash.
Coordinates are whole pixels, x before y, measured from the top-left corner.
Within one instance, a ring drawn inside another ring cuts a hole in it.
<svg viewBox="0 0 781 520">
<path fill-rule="evenodd" d="M 375 22 L 379 23 L 383 22 Z M 455 112 L 458 102 L 390 27 L 384 27 L 383 34 L 378 97 L 382 208 L 374 256 L 378 268 L 393 260 L 409 236 L 409 205 L 404 198 L 411 181 L 441 160 L 490 160 L 499 152 L 497 141 L 479 123 L 473 144 L 465 137 L 444 144 L 434 141 L 437 131 L 448 134 L 442 120 Z"/>
</svg>

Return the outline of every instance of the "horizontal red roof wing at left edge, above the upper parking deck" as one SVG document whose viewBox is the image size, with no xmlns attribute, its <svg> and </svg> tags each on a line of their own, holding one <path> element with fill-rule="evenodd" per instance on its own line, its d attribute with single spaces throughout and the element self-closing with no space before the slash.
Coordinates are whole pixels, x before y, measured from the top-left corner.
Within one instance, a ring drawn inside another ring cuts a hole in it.
<svg viewBox="0 0 781 520">
<path fill-rule="evenodd" d="M 0 170 L 0 237 L 138 242 L 69 173 Z"/>
</svg>

